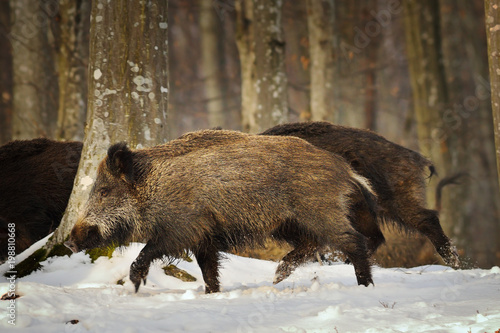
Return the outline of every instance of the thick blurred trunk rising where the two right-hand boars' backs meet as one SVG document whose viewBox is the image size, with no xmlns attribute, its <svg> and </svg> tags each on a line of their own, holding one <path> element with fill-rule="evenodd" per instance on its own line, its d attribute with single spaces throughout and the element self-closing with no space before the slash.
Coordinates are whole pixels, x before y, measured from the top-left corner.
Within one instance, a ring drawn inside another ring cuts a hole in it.
<svg viewBox="0 0 500 333">
<path fill-rule="evenodd" d="M 258 133 L 288 119 L 281 1 L 238 0 L 242 127 Z"/>
</svg>

